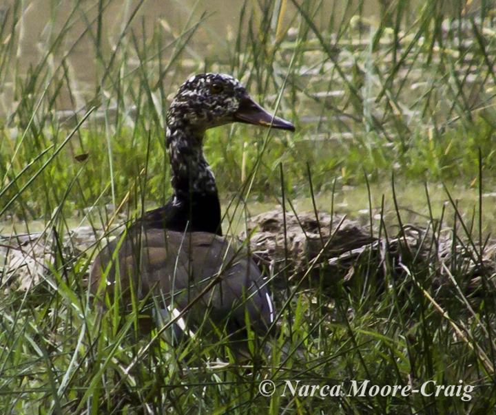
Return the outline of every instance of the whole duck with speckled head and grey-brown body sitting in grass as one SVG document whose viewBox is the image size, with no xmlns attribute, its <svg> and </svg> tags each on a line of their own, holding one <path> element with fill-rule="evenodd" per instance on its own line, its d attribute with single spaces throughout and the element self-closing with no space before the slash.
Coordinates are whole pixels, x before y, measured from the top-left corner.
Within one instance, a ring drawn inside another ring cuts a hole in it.
<svg viewBox="0 0 496 415">
<path fill-rule="evenodd" d="M 89 285 L 100 304 L 105 298 L 118 298 L 128 308 L 133 301 L 149 304 L 141 331 L 156 325 L 150 323 L 154 314 L 162 322 L 175 321 L 176 340 L 227 337 L 234 350 L 248 350 L 248 337 L 265 339 L 273 330 L 276 308 L 249 250 L 223 236 L 203 141 L 207 129 L 230 123 L 295 131 L 258 105 L 236 78 L 213 73 L 189 78 L 166 116 L 172 196 L 98 253 Z"/>
</svg>

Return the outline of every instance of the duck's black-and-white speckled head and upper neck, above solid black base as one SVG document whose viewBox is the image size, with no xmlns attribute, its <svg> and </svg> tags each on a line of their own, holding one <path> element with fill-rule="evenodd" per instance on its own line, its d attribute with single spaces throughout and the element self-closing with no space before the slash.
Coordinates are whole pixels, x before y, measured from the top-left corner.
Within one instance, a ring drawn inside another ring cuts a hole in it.
<svg viewBox="0 0 496 415">
<path fill-rule="evenodd" d="M 203 156 L 203 136 L 209 128 L 236 122 L 294 131 L 291 123 L 260 107 L 232 76 L 200 74 L 179 88 L 167 111 L 166 131 L 178 202 L 190 193 L 217 193 L 214 174 Z"/>
</svg>

